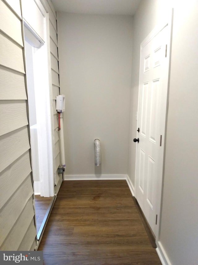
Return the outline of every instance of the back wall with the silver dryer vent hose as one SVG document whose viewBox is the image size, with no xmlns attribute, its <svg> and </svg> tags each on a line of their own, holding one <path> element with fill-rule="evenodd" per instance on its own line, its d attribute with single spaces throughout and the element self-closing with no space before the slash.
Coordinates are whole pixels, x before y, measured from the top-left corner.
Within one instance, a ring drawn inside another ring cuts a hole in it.
<svg viewBox="0 0 198 265">
<path fill-rule="evenodd" d="M 127 174 L 132 17 L 58 12 L 66 175 Z M 102 167 L 94 167 L 94 139 Z"/>
</svg>

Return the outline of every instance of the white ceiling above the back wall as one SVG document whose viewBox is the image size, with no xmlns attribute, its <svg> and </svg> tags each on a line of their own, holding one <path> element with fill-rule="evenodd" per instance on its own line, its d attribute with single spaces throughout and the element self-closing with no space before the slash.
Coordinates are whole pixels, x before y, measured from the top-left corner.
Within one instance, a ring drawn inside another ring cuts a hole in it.
<svg viewBox="0 0 198 265">
<path fill-rule="evenodd" d="M 79 14 L 134 15 L 141 0 L 51 0 L 56 11 Z"/>
</svg>

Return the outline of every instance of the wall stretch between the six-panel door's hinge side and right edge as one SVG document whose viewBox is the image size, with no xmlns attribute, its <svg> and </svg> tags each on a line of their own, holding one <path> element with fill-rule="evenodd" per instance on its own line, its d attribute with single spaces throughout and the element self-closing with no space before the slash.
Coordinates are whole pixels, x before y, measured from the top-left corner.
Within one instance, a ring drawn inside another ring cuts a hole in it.
<svg viewBox="0 0 198 265">
<path fill-rule="evenodd" d="M 198 263 L 198 2 L 185 3 L 174 12 L 160 236 L 180 265 Z"/>
</svg>

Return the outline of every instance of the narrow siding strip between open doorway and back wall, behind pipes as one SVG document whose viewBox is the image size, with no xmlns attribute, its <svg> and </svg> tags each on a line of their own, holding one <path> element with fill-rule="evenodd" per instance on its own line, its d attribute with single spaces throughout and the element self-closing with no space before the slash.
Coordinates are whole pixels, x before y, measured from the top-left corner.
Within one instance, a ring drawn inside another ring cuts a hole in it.
<svg viewBox="0 0 198 265">
<path fill-rule="evenodd" d="M 58 120 L 56 112 L 56 96 L 60 95 L 59 85 L 59 70 L 58 70 L 58 38 L 57 38 L 57 22 L 56 11 L 50 0 L 45 2 L 49 11 L 49 35 L 50 35 L 50 59 L 51 59 L 51 77 L 52 77 L 52 93 L 53 93 L 53 115 L 54 115 L 54 165 L 55 165 L 55 192 L 58 193 L 60 185 L 62 183 L 62 175 L 58 175 L 58 166 L 60 165 L 60 143 L 58 136 Z"/>
</svg>

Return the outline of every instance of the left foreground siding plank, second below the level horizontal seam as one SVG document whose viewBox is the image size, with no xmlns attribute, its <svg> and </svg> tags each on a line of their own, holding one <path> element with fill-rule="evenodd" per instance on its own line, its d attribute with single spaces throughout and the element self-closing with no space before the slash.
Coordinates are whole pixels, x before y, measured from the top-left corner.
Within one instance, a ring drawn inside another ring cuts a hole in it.
<svg viewBox="0 0 198 265">
<path fill-rule="evenodd" d="M 0 172 L 29 148 L 27 126 L 0 136 Z"/>
</svg>

